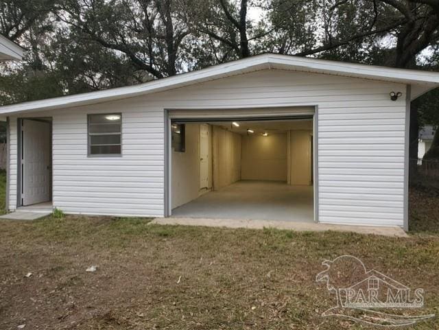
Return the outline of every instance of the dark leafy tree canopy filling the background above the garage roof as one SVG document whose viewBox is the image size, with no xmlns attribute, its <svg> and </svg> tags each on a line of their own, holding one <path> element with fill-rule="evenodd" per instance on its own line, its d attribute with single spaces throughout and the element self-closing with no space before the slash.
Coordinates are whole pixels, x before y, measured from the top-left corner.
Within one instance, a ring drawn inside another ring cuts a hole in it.
<svg viewBox="0 0 439 330">
<path fill-rule="evenodd" d="M 5 0 L 0 33 L 26 49 L 1 64 L 8 104 L 263 52 L 437 69 L 439 0 Z"/>
</svg>

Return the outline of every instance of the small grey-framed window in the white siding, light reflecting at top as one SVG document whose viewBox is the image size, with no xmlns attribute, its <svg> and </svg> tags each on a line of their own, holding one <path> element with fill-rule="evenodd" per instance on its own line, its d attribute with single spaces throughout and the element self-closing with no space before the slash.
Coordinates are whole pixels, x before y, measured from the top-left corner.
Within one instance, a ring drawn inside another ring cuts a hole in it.
<svg viewBox="0 0 439 330">
<path fill-rule="evenodd" d="M 88 154 L 120 155 L 121 123 L 120 113 L 88 115 Z"/>
</svg>

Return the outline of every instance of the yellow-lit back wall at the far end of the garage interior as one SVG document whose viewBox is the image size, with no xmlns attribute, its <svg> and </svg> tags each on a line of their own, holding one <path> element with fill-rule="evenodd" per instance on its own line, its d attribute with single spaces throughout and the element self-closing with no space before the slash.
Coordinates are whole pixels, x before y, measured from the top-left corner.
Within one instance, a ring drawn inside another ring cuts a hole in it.
<svg viewBox="0 0 439 330">
<path fill-rule="evenodd" d="M 244 135 L 241 143 L 242 180 L 287 181 L 287 133 L 268 137 Z"/>
</svg>

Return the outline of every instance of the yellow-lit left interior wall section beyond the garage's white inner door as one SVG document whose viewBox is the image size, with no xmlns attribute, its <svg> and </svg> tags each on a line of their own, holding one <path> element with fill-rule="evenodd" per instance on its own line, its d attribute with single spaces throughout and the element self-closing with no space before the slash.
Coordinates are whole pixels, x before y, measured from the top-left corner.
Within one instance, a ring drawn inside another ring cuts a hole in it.
<svg viewBox="0 0 439 330">
<path fill-rule="evenodd" d="M 241 135 L 213 126 L 213 189 L 241 180 Z"/>
</svg>

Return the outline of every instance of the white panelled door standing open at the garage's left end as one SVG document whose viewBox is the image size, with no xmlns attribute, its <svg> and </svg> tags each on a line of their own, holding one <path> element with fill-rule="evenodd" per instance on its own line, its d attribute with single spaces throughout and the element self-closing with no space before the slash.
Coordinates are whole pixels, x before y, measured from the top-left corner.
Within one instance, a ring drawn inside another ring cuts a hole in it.
<svg viewBox="0 0 439 330">
<path fill-rule="evenodd" d="M 50 200 L 50 123 L 23 119 L 23 206 Z"/>
</svg>

